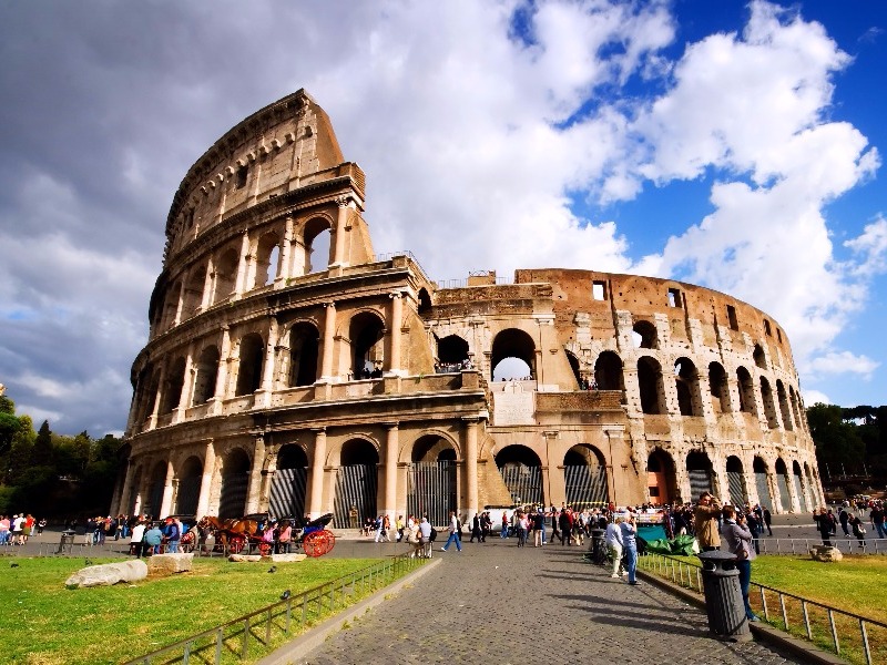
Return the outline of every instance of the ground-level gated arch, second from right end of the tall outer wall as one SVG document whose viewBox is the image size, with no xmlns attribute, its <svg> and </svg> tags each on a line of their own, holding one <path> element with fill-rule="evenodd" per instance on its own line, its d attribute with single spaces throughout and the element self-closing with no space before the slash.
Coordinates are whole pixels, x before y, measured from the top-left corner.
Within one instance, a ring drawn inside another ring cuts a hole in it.
<svg viewBox="0 0 887 665">
<path fill-rule="evenodd" d="M 323 460 L 315 460 L 315 463 L 323 463 Z M 361 522 L 367 518 L 376 519 L 378 464 L 379 453 L 369 441 L 351 439 L 343 444 L 333 509 L 337 526 L 350 524 L 349 513 L 353 509 Z"/>
</svg>

